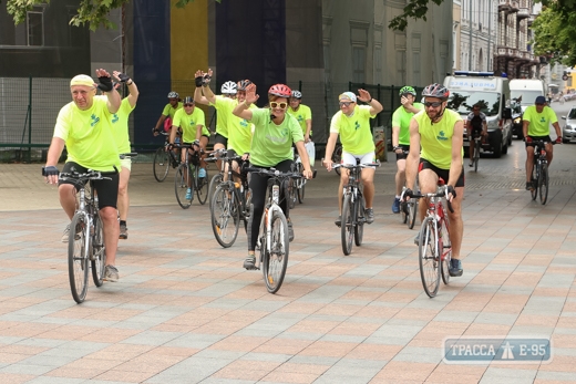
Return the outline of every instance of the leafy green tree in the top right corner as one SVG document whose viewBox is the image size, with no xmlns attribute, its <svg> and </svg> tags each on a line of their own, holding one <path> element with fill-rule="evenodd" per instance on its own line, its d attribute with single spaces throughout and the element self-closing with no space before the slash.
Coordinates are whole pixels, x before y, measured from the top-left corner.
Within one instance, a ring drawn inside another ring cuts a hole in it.
<svg viewBox="0 0 576 384">
<path fill-rule="evenodd" d="M 576 65 L 576 0 L 545 1 L 532 23 L 534 54 L 555 63 Z"/>
</svg>

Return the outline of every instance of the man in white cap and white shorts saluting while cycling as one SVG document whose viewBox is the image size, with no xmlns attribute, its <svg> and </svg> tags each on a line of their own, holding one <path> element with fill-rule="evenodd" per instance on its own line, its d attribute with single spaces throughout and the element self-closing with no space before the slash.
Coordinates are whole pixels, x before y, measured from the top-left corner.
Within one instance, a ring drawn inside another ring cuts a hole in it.
<svg viewBox="0 0 576 384">
<path fill-rule="evenodd" d="M 357 105 L 357 100 L 368 105 Z M 366 90 L 358 90 L 358 96 L 352 92 L 344 92 L 338 96 L 340 111 L 337 112 L 330 123 L 330 137 L 326 144 L 325 166 L 328 172 L 332 169 L 332 152 L 335 151 L 336 141 L 340 136 L 342 143 L 342 164 L 356 165 L 371 164 L 376 160 L 376 146 L 370 129 L 370 118 L 374 118 L 383 107 L 378 100 L 372 98 Z M 372 200 L 374 198 L 374 168 L 362 169 L 362 184 L 364 186 L 366 199 L 366 222 L 374 221 L 374 210 Z M 338 189 L 338 205 L 340 216 L 335 221 L 337 226 L 341 225 L 342 212 L 342 194 L 343 186 L 348 184 L 348 173 L 340 174 L 340 186 Z"/>
</svg>

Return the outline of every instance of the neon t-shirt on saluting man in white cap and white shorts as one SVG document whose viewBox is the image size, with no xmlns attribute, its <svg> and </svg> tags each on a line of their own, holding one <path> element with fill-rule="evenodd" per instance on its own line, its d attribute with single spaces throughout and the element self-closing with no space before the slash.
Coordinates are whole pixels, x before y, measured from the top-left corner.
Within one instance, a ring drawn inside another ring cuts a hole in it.
<svg viewBox="0 0 576 384">
<path fill-rule="evenodd" d="M 370 105 L 357 105 L 352 116 L 347 116 L 342 111 L 337 112 L 330 123 L 330 133 L 340 135 L 342 151 L 352 155 L 364 155 L 373 152 L 374 139 L 370 129 Z"/>
</svg>

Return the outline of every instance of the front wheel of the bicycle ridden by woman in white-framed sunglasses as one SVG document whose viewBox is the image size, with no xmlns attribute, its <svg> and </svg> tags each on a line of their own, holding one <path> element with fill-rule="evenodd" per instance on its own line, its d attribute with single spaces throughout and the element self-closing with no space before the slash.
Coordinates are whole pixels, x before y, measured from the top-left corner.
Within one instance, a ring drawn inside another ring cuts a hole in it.
<svg viewBox="0 0 576 384">
<path fill-rule="evenodd" d="M 270 211 L 268 212 L 270 215 Z M 288 267 L 288 221 L 280 209 L 271 211 L 270 243 L 264 252 L 263 273 L 268 292 L 276 293 L 280 289 L 286 268 Z M 265 245 L 266 246 L 266 245 Z"/>
</svg>

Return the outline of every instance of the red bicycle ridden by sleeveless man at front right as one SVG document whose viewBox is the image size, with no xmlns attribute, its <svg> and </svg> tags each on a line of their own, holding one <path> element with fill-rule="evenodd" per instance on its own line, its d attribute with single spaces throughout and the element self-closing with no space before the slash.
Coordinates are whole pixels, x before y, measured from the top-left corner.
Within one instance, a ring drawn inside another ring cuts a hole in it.
<svg viewBox="0 0 576 384">
<path fill-rule="evenodd" d="M 426 216 L 420 227 L 420 241 L 418 245 L 420 278 L 424 292 L 426 292 L 429 298 L 436 295 L 441 276 L 444 284 L 450 282 L 449 269 L 452 260 L 450 222 L 442 204 L 442 197 L 446 196 L 446 188 L 444 180 L 440 178 L 435 193 L 413 193 L 411 196 L 412 198 L 429 198 Z M 404 191 L 402 193 L 402 199 Z M 446 203 L 448 209 L 453 212 L 452 205 L 449 200 Z"/>
</svg>

